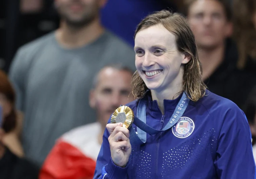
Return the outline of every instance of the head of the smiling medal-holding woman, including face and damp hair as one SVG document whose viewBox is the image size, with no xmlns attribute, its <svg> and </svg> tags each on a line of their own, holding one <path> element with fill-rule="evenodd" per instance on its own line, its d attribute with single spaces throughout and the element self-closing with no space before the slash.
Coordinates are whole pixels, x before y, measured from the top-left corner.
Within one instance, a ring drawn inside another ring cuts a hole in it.
<svg viewBox="0 0 256 179">
<path fill-rule="evenodd" d="M 161 82 L 155 79 L 155 85 L 157 83 L 162 89 L 174 87 L 176 92 L 184 89 L 191 100 L 197 101 L 204 96 L 206 86 L 202 82 L 201 63 L 193 32 L 179 14 L 162 15 L 165 16 L 162 19 L 145 18 L 136 29 L 134 50 L 137 72 L 132 83 L 133 94 L 137 98 L 144 96 L 149 88 L 146 79 L 152 79 L 152 70 L 156 70 L 154 74 L 159 73 L 157 76 Z"/>
</svg>

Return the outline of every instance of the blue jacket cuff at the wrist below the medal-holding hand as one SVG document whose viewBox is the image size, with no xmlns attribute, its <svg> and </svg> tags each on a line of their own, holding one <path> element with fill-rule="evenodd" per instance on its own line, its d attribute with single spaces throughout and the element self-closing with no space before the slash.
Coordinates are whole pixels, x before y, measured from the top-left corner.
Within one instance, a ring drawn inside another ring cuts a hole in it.
<svg viewBox="0 0 256 179">
<path fill-rule="evenodd" d="M 122 168 L 122 167 L 115 165 L 112 158 L 110 157 L 109 163 L 105 166 L 105 171 L 106 171 L 107 175 L 109 176 L 109 178 L 111 178 L 111 179 L 127 178 L 127 170 L 128 170 L 128 166 L 129 166 L 129 161 L 126 164 L 126 167 Z"/>
</svg>

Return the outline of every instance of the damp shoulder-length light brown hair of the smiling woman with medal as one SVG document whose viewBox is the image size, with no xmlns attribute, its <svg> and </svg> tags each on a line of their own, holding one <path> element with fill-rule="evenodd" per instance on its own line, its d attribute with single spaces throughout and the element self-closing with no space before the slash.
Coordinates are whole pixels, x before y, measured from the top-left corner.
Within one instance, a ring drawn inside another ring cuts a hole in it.
<svg viewBox="0 0 256 179">
<path fill-rule="evenodd" d="M 148 15 L 138 24 L 134 37 L 140 30 L 157 24 L 162 24 L 167 30 L 175 34 L 179 53 L 191 56 L 191 60 L 184 65 L 183 90 L 192 101 L 198 101 L 205 95 L 206 85 L 202 80 L 202 65 L 198 58 L 195 37 L 186 18 L 179 13 L 172 13 L 167 10 L 157 11 Z M 132 94 L 135 99 L 142 98 L 147 89 L 146 84 L 136 71 L 132 78 Z"/>
</svg>

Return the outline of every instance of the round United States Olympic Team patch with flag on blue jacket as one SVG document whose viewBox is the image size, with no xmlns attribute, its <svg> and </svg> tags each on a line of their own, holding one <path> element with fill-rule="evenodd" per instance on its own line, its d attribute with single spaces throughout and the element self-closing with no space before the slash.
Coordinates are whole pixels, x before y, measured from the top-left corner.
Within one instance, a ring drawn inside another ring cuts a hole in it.
<svg viewBox="0 0 256 179">
<path fill-rule="evenodd" d="M 172 127 L 173 135 L 177 138 L 186 138 L 194 131 L 194 121 L 188 117 L 181 117 Z"/>
</svg>

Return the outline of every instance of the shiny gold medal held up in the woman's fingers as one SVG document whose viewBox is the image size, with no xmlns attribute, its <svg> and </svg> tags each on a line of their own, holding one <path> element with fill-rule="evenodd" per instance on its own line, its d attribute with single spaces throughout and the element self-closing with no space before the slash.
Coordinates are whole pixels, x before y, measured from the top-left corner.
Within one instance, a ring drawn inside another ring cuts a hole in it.
<svg viewBox="0 0 256 179">
<path fill-rule="evenodd" d="M 111 116 L 111 123 L 123 123 L 123 127 L 129 128 L 134 119 L 134 113 L 131 108 L 128 106 L 120 106 L 118 109 L 114 111 L 114 113 Z"/>
</svg>

